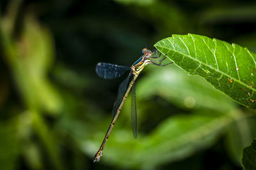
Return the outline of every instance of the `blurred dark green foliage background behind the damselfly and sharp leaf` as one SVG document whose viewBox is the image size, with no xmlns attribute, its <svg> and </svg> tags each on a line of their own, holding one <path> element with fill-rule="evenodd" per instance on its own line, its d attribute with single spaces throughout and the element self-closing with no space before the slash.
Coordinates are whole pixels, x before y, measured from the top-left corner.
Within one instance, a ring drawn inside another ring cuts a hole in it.
<svg viewBox="0 0 256 170">
<path fill-rule="evenodd" d="M 119 83 L 98 62 L 131 64 L 172 34 L 256 52 L 256 3 L 234 0 L 0 1 L 0 169 L 241 169 L 256 115 L 175 64 L 136 83 L 138 138 L 124 104 L 102 160 Z"/>
</svg>

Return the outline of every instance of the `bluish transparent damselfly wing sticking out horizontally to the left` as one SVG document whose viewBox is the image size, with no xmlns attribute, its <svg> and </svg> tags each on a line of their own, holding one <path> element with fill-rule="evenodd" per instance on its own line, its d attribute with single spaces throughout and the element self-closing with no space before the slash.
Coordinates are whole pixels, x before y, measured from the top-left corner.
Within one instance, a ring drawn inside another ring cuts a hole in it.
<svg viewBox="0 0 256 170">
<path fill-rule="evenodd" d="M 122 76 L 125 71 L 130 70 L 128 66 L 118 66 L 106 62 L 99 62 L 96 66 L 96 73 L 104 79 L 114 79 Z"/>
</svg>

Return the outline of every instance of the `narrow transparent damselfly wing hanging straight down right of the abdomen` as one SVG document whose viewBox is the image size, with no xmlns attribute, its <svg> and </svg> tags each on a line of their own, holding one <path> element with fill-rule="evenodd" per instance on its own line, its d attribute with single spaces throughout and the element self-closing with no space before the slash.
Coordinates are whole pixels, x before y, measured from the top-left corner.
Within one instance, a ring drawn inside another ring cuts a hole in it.
<svg viewBox="0 0 256 170">
<path fill-rule="evenodd" d="M 138 133 L 138 122 L 137 122 L 137 110 L 136 110 L 136 88 L 135 82 L 132 86 L 132 108 L 131 108 L 131 122 L 132 122 L 132 132 L 134 138 L 137 138 Z"/>
</svg>

